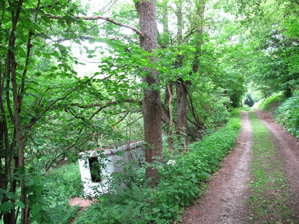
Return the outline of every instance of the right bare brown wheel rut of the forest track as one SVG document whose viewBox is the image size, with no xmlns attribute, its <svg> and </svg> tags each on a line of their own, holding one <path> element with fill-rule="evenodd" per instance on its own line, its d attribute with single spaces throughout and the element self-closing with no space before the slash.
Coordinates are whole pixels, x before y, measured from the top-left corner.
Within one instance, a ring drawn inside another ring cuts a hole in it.
<svg viewBox="0 0 299 224">
<path fill-rule="evenodd" d="M 285 129 L 277 125 L 270 114 L 263 113 L 260 109 L 256 113 L 274 137 L 274 145 L 280 160 L 283 161 L 284 171 L 292 190 L 292 210 L 295 211 L 299 220 L 299 142 Z"/>
</svg>

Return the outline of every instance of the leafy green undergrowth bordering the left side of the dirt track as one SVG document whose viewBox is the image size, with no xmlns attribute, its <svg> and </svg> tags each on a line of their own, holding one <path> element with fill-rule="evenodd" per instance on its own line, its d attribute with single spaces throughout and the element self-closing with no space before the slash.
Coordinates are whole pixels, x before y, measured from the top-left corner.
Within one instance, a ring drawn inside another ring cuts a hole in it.
<svg viewBox="0 0 299 224">
<path fill-rule="evenodd" d="M 210 173 L 234 146 L 240 129 L 240 109 L 234 109 L 227 125 L 189 144 L 186 154 L 173 158 L 176 163 L 167 165 L 167 159 L 158 164 L 161 178 L 155 188 L 144 181 L 144 168 L 140 168 L 127 188 L 103 194 L 75 223 L 162 224 L 179 220 L 181 208 L 202 194 Z"/>
</svg>

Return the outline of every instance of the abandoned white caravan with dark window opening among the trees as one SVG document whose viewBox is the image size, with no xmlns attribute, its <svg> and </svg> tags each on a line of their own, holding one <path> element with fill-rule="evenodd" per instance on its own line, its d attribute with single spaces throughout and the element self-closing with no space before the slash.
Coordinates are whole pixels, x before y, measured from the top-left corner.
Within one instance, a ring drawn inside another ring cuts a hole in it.
<svg viewBox="0 0 299 224">
<path fill-rule="evenodd" d="M 124 165 L 135 167 L 144 163 L 144 142 L 134 142 L 112 149 L 94 149 L 79 154 L 79 166 L 83 182 L 84 196 L 95 197 L 111 188 L 113 173 L 122 173 Z M 126 187 L 126 181 L 118 182 L 118 189 Z"/>
</svg>

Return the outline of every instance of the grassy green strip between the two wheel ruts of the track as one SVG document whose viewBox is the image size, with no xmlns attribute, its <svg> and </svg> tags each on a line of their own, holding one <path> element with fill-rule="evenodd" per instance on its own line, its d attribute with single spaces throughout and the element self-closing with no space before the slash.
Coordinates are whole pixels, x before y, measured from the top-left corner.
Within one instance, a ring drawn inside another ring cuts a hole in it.
<svg viewBox="0 0 299 224">
<path fill-rule="evenodd" d="M 249 112 L 249 118 L 254 141 L 252 181 L 246 201 L 250 223 L 298 223 L 292 218 L 291 190 L 274 146 L 274 138 L 254 112 Z"/>
</svg>

